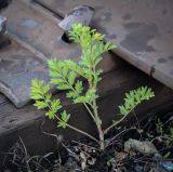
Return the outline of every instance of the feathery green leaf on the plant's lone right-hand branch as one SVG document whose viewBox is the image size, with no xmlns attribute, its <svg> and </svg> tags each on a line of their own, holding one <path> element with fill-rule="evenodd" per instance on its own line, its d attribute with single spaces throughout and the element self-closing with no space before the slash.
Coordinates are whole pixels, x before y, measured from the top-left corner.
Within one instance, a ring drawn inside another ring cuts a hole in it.
<svg viewBox="0 0 173 172">
<path fill-rule="evenodd" d="M 155 96 L 155 93 L 150 88 L 142 87 L 137 90 L 132 90 L 130 93 L 125 93 L 124 104 L 119 106 L 121 115 L 128 115 L 143 101 L 148 101 Z"/>
</svg>

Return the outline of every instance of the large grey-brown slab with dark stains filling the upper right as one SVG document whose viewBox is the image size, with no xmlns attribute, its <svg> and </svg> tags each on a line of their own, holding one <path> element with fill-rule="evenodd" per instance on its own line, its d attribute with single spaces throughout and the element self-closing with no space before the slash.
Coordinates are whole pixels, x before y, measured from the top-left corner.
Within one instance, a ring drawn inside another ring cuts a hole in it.
<svg viewBox="0 0 173 172">
<path fill-rule="evenodd" d="M 93 27 L 118 44 L 122 58 L 173 89 L 172 0 L 35 0 L 65 16 L 82 4 L 95 9 Z"/>
</svg>

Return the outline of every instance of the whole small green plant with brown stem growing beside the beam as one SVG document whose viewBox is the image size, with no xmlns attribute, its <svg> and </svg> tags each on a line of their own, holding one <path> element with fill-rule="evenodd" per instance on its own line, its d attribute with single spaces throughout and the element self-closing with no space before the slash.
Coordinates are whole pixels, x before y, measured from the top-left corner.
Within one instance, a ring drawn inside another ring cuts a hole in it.
<svg viewBox="0 0 173 172">
<path fill-rule="evenodd" d="M 104 35 L 98 34 L 95 29 L 81 24 L 74 25 L 69 37 L 75 42 L 79 43 L 82 49 L 82 55 L 78 63 L 70 59 L 48 61 L 49 74 L 51 76 L 51 84 L 56 85 L 58 90 L 66 91 L 66 97 L 71 98 L 74 104 L 83 104 L 98 131 L 98 138 L 85 133 L 69 124 L 70 115 L 64 109 L 62 111 L 62 103 L 59 100 L 53 100 L 50 93 L 49 84 L 37 79 L 31 82 L 30 96 L 36 101 L 35 106 L 38 109 L 46 108 L 45 116 L 50 119 L 57 120 L 57 127 L 70 128 L 79 133 L 82 133 L 99 144 L 101 149 L 105 148 L 105 134 L 119 124 L 139 103 L 154 97 L 151 89 L 139 88 L 125 94 L 124 104 L 120 106 L 122 118 L 114 122 L 107 129 L 103 129 L 102 119 L 98 115 L 98 106 L 96 98 L 98 97 L 97 85 L 102 80 L 102 69 L 97 65 L 102 61 L 101 54 L 116 47 L 112 43 L 104 42 Z M 88 88 L 84 88 L 80 78 L 88 81 Z M 59 115 L 57 115 L 59 110 Z"/>
</svg>

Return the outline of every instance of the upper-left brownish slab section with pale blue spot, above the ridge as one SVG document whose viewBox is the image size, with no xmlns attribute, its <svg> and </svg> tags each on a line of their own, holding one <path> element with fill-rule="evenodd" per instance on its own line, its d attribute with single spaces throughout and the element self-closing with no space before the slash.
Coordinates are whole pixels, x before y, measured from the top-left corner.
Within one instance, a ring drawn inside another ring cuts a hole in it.
<svg viewBox="0 0 173 172">
<path fill-rule="evenodd" d="M 58 18 L 50 17 L 24 0 L 12 1 L 2 14 L 8 18 L 6 31 L 35 48 L 36 55 L 43 54 L 43 59 L 58 56 L 77 61 L 79 57 L 79 47 L 62 41 L 64 31 L 57 26 Z"/>
</svg>

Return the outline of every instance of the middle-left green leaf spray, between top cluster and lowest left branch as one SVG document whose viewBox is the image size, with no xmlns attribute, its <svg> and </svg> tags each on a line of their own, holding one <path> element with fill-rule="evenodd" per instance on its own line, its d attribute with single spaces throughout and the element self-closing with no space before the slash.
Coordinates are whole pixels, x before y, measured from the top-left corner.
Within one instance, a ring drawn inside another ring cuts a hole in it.
<svg viewBox="0 0 173 172">
<path fill-rule="evenodd" d="M 78 69 L 77 64 L 71 61 L 50 59 L 48 62 L 51 83 L 55 84 L 58 90 L 66 90 L 67 97 L 75 100 L 82 93 L 83 84 L 82 81 L 77 80 L 79 74 L 75 69 L 69 69 L 70 64 Z"/>
</svg>

